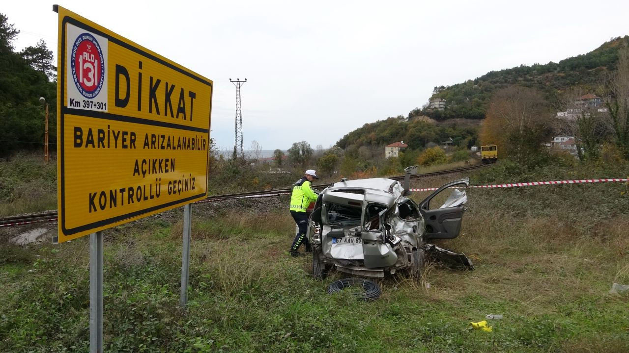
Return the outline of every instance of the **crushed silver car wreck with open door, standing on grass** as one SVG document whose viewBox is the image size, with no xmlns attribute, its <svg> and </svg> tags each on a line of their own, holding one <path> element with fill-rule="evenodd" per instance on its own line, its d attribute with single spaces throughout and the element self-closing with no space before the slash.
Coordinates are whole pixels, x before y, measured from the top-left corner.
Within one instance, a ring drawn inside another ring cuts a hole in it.
<svg viewBox="0 0 629 353">
<path fill-rule="evenodd" d="M 459 236 L 467 195 L 457 185 L 466 187 L 469 178 L 443 185 L 419 205 L 406 197 L 401 183 L 387 178 L 344 180 L 325 188 L 308 222 L 313 275 L 325 278 L 335 268 L 371 278 L 405 270 L 418 278 L 427 256 L 473 269 L 463 254 L 427 244 Z M 450 197 L 430 209 L 442 192 L 451 192 Z"/>
</svg>

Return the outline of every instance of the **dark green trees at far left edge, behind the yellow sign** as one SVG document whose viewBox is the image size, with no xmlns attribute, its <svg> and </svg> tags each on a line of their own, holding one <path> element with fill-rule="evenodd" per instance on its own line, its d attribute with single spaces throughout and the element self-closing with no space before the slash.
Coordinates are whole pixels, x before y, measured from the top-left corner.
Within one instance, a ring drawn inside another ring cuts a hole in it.
<svg viewBox="0 0 629 353">
<path fill-rule="evenodd" d="M 57 69 L 52 51 L 41 40 L 15 52 L 12 41 L 19 30 L 0 13 L 0 157 L 24 149 L 43 149 L 45 106 L 48 103 L 49 144 L 55 149 L 57 133 Z"/>
</svg>

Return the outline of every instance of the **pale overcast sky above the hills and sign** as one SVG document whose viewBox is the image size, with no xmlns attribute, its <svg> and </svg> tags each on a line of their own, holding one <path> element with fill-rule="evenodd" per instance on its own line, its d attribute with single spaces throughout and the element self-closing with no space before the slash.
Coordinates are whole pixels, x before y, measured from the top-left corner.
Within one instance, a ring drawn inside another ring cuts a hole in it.
<svg viewBox="0 0 629 353">
<path fill-rule="evenodd" d="M 4 1 L 57 55 L 53 2 Z M 438 85 L 558 62 L 629 34 L 629 1 L 60 1 L 70 11 L 214 81 L 211 137 L 233 148 L 328 148 L 367 122 L 408 116 Z M 394 142 L 394 141 L 391 141 Z"/>
</svg>

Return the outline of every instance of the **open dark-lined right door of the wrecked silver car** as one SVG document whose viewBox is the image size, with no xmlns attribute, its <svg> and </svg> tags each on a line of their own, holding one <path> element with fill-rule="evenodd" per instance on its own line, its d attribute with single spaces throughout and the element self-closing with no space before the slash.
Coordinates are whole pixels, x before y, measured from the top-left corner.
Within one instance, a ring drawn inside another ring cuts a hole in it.
<svg viewBox="0 0 629 353">
<path fill-rule="evenodd" d="M 435 190 L 420 203 L 420 212 L 426 225 L 425 241 L 453 239 L 459 236 L 467 195 L 465 195 L 465 190 L 456 187 L 467 187 L 467 185 L 469 185 L 469 178 L 449 182 Z M 434 207 L 437 201 L 435 198 L 445 198 L 441 207 Z M 431 202 L 433 202 L 433 207 L 430 207 Z"/>
</svg>

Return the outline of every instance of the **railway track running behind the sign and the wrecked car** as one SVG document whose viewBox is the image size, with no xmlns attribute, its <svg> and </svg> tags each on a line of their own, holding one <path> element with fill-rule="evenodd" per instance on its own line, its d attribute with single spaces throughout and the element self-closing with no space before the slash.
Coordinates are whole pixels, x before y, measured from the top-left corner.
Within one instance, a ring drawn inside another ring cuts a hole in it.
<svg viewBox="0 0 629 353">
<path fill-rule="evenodd" d="M 453 173 L 461 173 L 464 171 L 476 170 L 483 168 L 487 165 L 476 165 L 469 166 L 465 168 L 458 168 L 452 170 L 443 170 L 443 171 L 434 171 L 432 173 L 423 173 L 423 174 L 413 174 L 411 175 L 411 179 L 418 178 L 427 178 L 430 176 L 438 176 L 438 175 L 447 175 Z M 401 176 L 390 176 L 389 179 L 392 180 L 404 180 L 404 175 Z M 313 185 L 313 188 L 326 188 L 330 184 L 317 184 Z M 222 200 L 231 200 L 233 198 L 248 198 L 248 197 L 270 197 L 275 195 L 281 195 L 284 193 L 290 193 L 292 188 L 279 188 L 273 190 L 262 190 L 262 191 L 252 191 L 252 192 L 240 192 L 240 193 L 229 193 L 224 195 L 213 195 L 205 198 L 204 200 L 199 200 L 196 204 L 204 203 L 204 202 L 217 202 Z M 25 225 L 31 223 L 40 223 L 40 222 L 56 222 L 57 221 L 57 211 L 50 212 L 42 212 L 39 214 L 30 214 L 30 215 L 14 215 L 10 217 L 0 217 L 0 228 L 2 227 L 16 227 L 18 225 Z"/>
</svg>

